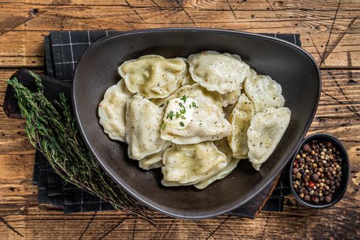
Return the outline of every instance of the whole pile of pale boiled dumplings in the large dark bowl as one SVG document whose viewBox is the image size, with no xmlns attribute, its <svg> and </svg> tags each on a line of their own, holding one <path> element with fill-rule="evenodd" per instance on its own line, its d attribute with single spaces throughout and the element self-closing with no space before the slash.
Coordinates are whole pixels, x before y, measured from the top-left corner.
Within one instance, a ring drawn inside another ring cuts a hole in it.
<svg viewBox="0 0 360 240">
<path fill-rule="evenodd" d="M 99 104 L 100 124 L 140 168 L 161 167 L 166 187 L 204 189 L 241 159 L 259 170 L 290 122 L 281 86 L 234 54 L 148 55 L 118 73 Z"/>
</svg>

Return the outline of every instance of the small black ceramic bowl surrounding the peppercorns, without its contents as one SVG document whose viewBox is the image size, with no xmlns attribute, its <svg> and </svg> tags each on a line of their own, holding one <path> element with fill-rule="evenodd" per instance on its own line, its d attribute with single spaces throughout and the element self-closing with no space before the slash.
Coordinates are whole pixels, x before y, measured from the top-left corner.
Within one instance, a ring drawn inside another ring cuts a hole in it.
<svg viewBox="0 0 360 240">
<path fill-rule="evenodd" d="M 296 193 L 294 186 L 293 186 L 292 169 L 293 169 L 293 165 L 294 165 L 294 160 L 296 159 L 296 154 L 298 154 L 300 148 L 305 143 L 309 143 L 309 141 L 314 140 L 314 139 L 318 140 L 318 141 L 329 141 L 329 142 L 333 143 L 334 147 L 336 147 L 337 151 L 340 152 L 340 156 L 342 157 L 342 164 L 341 164 L 342 182 L 341 182 L 339 188 L 336 190 L 335 195 L 333 195 L 333 200 L 331 200 L 331 202 L 329 202 L 329 203 L 319 202 L 318 204 L 316 204 L 313 202 L 307 202 L 307 201 L 303 200 L 303 198 L 299 197 L 298 193 Z M 346 188 L 348 187 L 348 180 L 349 180 L 349 176 L 350 176 L 350 162 L 349 162 L 348 152 L 346 152 L 344 145 L 342 145 L 342 143 L 339 141 L 339 139 L 337 139 L 335 136 L 331 136 L 330 134 L 325 134 L 325 133 L 316 133 L 316 134 L 307 136 L 307 138 L 305 138 L 303 140 L 303 142 L 299 145 L 298 149 L 296 150 L 296 154 L 294 154 L 294 158 L 292 159 L 292 165 L 291 165 L 292 167 L 290 167 L 290 172 L 289 172 L 290 187 L 292 189 L 292 195 L 294 195 L 296 200 L 298 200 L 298 202 L 300 202 L 300 204 L 303 204 L 304 206 L 307 206 L 309 208 L 327 208 L 327 207 L 333 206 L 334 204 L 339 202 L 346 192 Z"/>
</svg>

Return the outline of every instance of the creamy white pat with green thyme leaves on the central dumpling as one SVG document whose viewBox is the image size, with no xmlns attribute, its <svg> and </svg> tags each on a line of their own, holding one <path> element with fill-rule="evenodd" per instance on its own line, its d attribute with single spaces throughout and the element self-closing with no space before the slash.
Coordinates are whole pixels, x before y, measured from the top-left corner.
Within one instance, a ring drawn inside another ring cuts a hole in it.
<svg viewBox="0 0 360 240">
<path fill-rule="evenodd" d="M 196 101 L 192 97 L 187 97 L 185 101 L 181 98 L 172 99 L 166 106 L 164 123 L 177 129 L 186 128 L 196 108 Z"/>
</svg>

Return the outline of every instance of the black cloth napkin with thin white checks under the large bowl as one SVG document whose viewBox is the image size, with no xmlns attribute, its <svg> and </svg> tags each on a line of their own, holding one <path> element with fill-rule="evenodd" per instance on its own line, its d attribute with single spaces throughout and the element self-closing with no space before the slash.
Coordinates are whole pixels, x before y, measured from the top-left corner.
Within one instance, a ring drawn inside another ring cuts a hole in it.
<svg viewBox="0 0 360 240">
<path fill-rule="evenodd" d="M 45 74 L 58 80 L 71 82 L 77 61 L 96 40 L 114 34 L 116 31 L 71 31 L 51 32 L 44 36 Z M 287 40 L 301 46 L 299 34 L 264 34 Z M 290 180 L 285 167 L 279 183 L 275 187 L 263 211 L 282 211 L 284 196 L 290 194 Z M 64 209 L 64 213 L 87 211 L 105 211 L 114 209 L 108 202 L 64 182 L 58 176 L 48 160 L 40 152 L 36 152 L 34 165 L 34 184 L 38 185 L 38 202 L 53 204 Z M 236 211 L 234 211 L 236 214 Z M 240 214 L 241 215 L 241 214 Z"/>
</svg>

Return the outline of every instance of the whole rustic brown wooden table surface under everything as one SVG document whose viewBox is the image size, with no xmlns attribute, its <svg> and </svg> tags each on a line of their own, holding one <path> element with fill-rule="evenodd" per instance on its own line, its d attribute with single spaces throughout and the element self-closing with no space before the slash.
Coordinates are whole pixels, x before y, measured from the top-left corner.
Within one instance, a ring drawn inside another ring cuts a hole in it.
<svg viewBox="0 0 360 240">
<path fill-rule="evenodd" d="M 43 37 L 53 30 L 217 27 L 300 33 L 322 73 L 322 96 L 308 134 L 344 143 L 351 162 L 348 191 L 326 210 L 287 197 L 282 213 L 256 219 L 224 215 L 203 221 L 157 214 L 157 226 L 120 211 L 65 215 L 38 204 L 32 185 L 34 148 L 23 120 L 0 112 L 0 239 L 356 239 L 360 235 L 359 0 L 1 0 L 0 103 L 16 69 L 42 71 Z M 304 93 L 306 97 L 307 93 Z"/>
</svg>

